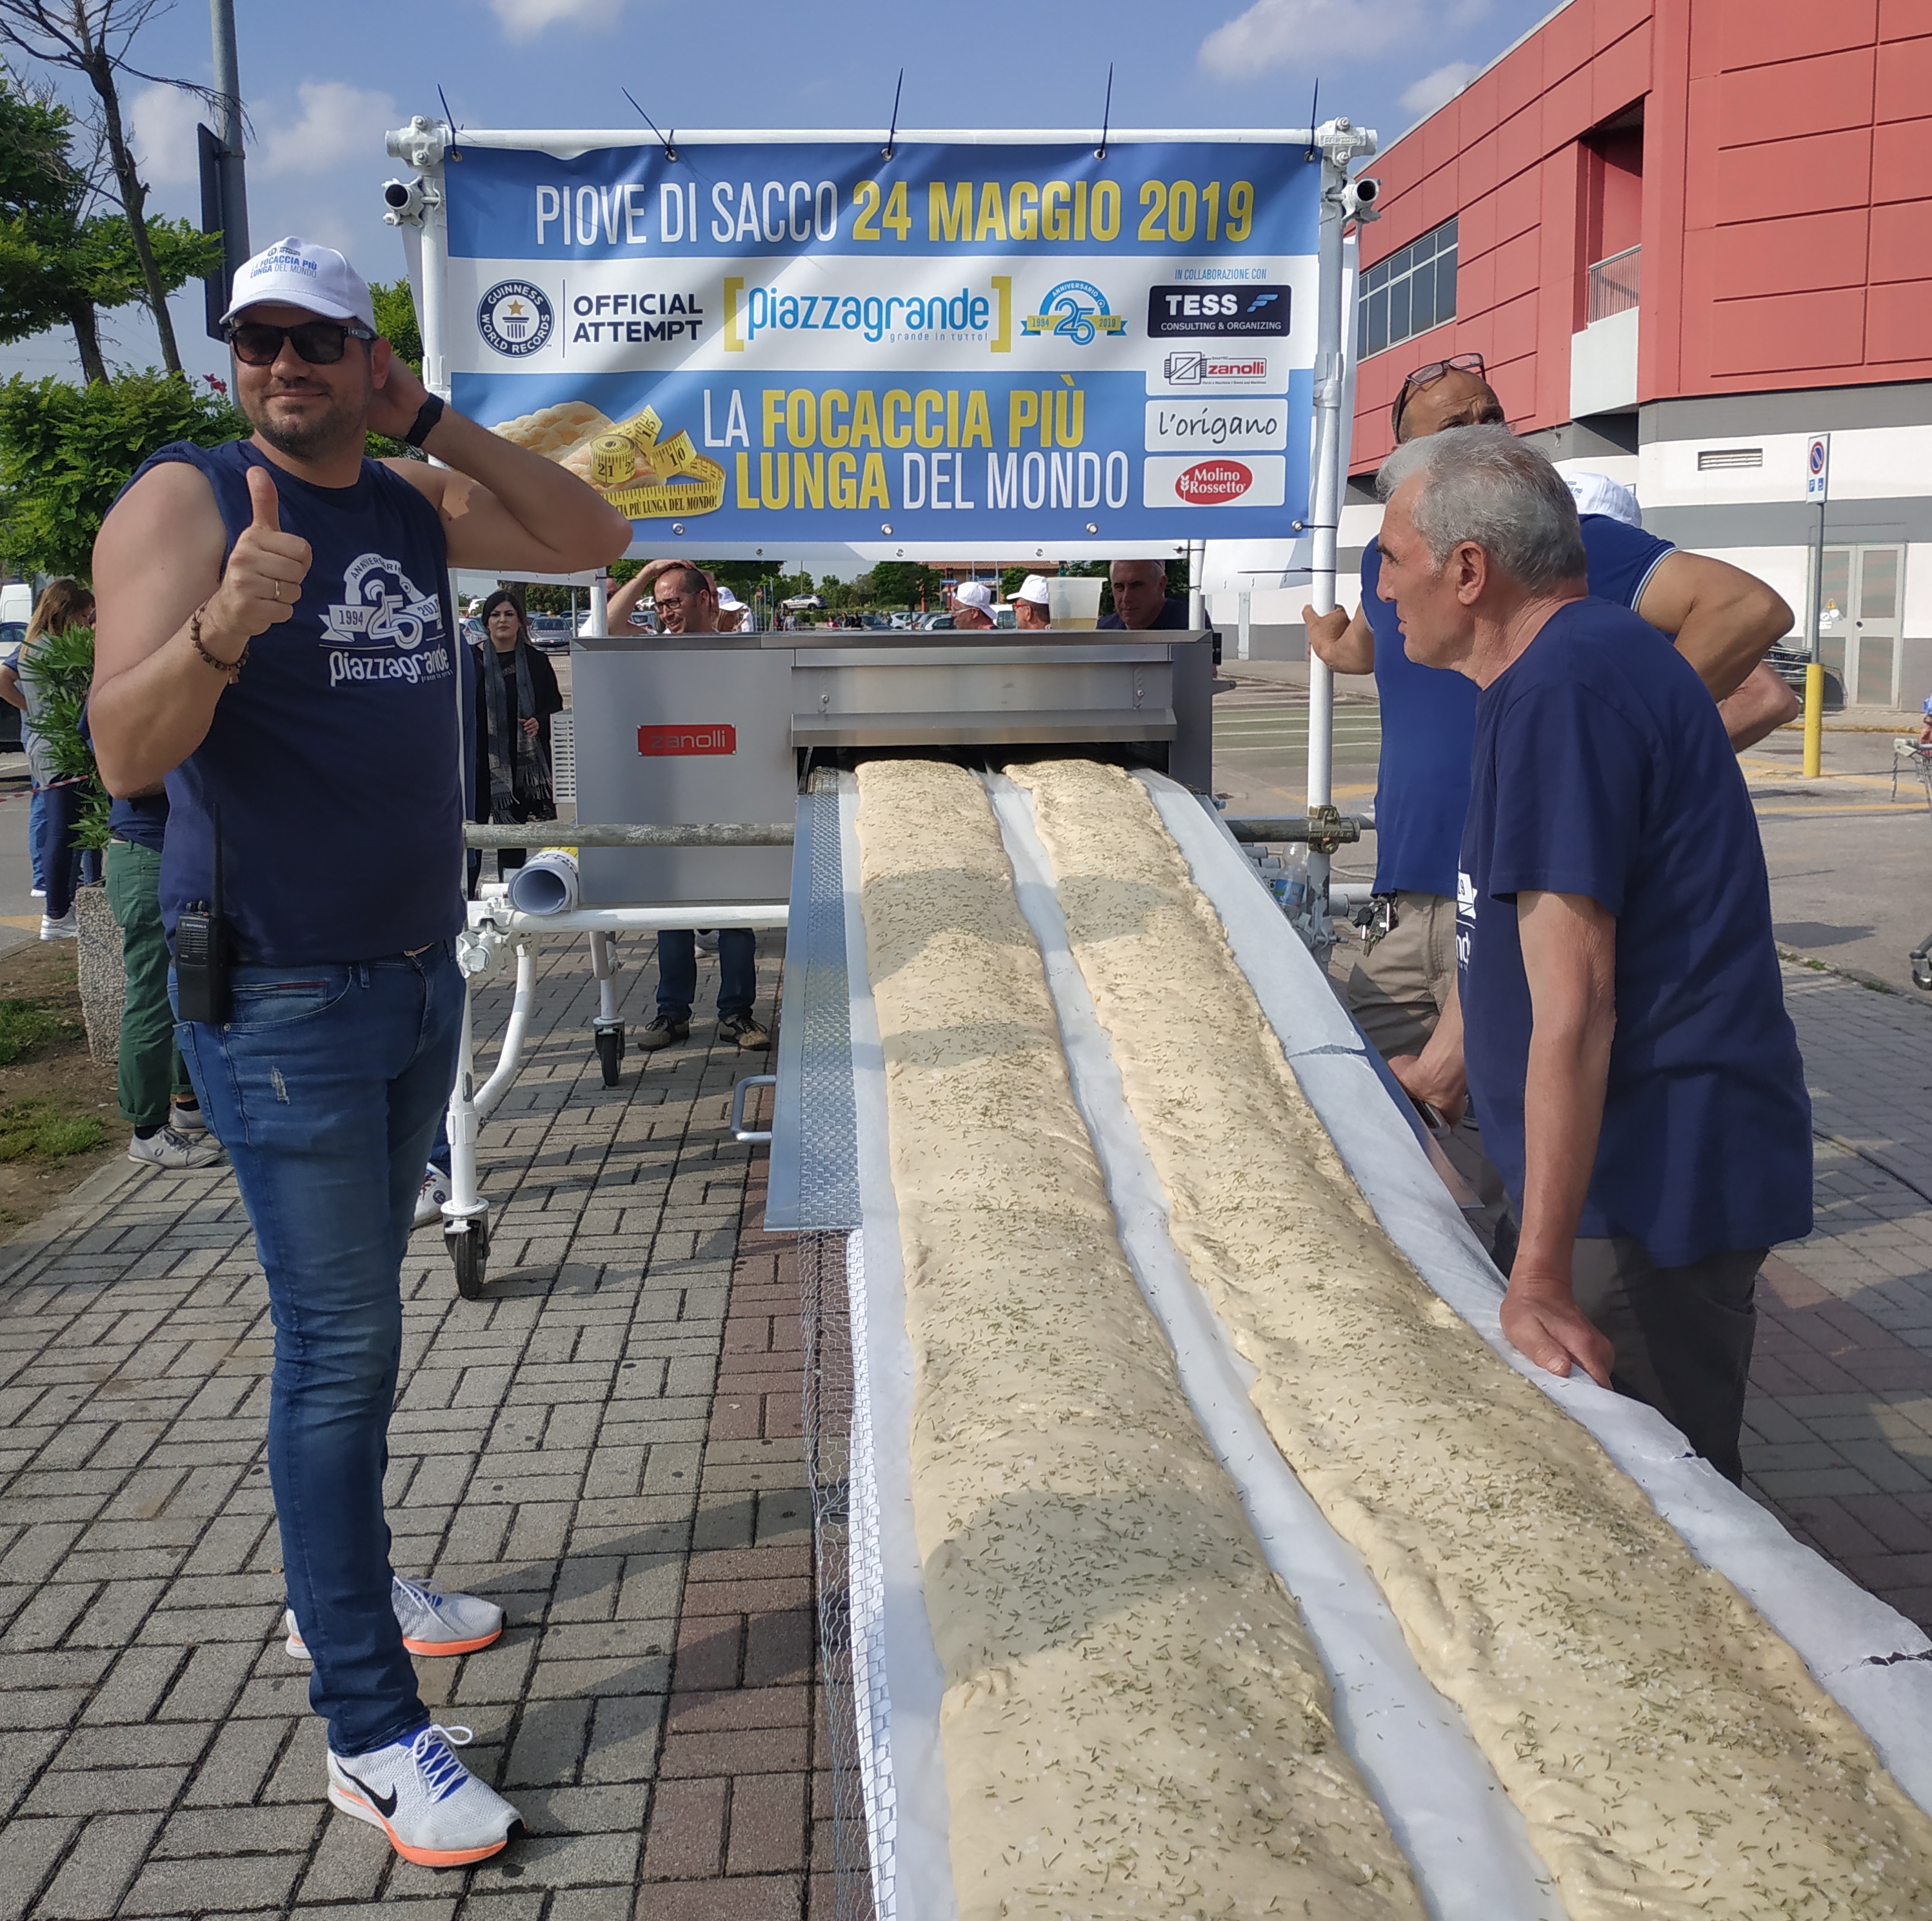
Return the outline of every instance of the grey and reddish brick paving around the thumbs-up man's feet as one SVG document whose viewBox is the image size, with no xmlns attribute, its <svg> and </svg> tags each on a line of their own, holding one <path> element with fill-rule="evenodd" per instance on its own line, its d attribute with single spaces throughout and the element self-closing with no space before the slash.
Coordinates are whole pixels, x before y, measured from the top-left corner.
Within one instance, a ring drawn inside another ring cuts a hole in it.
<svg viewBox="0 0 1932 1921">
<path fill-rule="evenodd" d="M 506 1003 L 485 997 L 487 1028 Z M 458 1299 L 439 1231 L 415 1237 L 390 1428 L 396 1567 L 512 1621 L 421 1662 L 425 1701 L 475 1730 L 466 1759 L 529 1838 L 439 1875 L 327 1807 L 280 1647 L 247 1221 L 226 1175 L 116 1163 L 0 1254 L 0 1921 L 808 1911 L 829 1797 L 798 1291 L 790 1243 L 755 1231 L 763 1161 L 724 1125 L 765 1063 L 707 1051 L 699 1022 L 605 1088 L 593 1011 L 554 943 L 483 1136 L 491 1299 Z"/>
</svg>

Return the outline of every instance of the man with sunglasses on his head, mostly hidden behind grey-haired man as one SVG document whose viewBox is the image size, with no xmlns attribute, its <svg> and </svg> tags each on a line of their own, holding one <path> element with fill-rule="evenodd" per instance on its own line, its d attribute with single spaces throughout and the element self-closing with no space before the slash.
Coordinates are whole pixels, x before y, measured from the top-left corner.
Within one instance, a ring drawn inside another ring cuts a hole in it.
<svg viewBox="0 0 1932 1921">
<path fill-rule="evenodd" d="M 1397 441 L 1505 423 L 1480 354 L 1418 367 L 1395 396 L 1391 419 Z M 1791 719 L 1791 690 L 1762 665 L 1772 642 L 1791 630 L 1791 609 L 1762 580 L 1681 553 L 1609 514 L 1582 516 L 1582 543 L 1592 597 L 1631 607 L 1675 638 L 1719 703 L 1733 748 L 1743 752 Z M 1379 578 L 1381 551 L 1370 543 L 1354 618 L 1304 607 L 1302 620 L 1320 659 L 1335 673 L 1374 673 L 1381 698 L 1376 922 L 1347 999 L 1378 1051 L 1397 1059 L 1418 1053 L 1439 1018 L 1455 1018 L 1457 848 L 1468 812 L 1476 688 L 1463 674 L 1408 659 Z M 1434 1105 L 1461 1111 L 1459 1088 L 1437 1092 Z"/>
</svg>

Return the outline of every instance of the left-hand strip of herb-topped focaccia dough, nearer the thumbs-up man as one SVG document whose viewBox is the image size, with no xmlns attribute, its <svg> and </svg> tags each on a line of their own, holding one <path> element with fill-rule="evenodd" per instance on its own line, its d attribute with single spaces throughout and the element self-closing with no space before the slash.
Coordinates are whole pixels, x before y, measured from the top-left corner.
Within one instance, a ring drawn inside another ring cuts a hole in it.
<svg viewBox="0 0 1932 1921">
<path fill-rule="evenodd" d="M 985 794 L 858 787 L 960 1915 L 1420 1917 L 1115 1239 Z"/>
</svg>

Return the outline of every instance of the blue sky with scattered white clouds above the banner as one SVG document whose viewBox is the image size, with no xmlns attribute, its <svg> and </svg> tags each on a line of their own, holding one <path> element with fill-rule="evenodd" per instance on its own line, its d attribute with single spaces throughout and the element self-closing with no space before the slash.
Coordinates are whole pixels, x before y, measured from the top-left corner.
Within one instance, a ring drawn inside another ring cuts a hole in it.
<svg viewBox="0 0 1932 1921">
<path fill-rule="evenodd" d="M 1393 139 L 1551 10 L 1551 0 L 238 0 L 249 141 L 249 234 L 338 245 L 396 278 L 383 133 L 437 114 L 458 126 L 630 128 L 628 87 L 659 126 L 883 131 L 906 70 L 906 128 L 1088 128 L 1107 64 L 1113 124 L 1304 126 L 1349 114 Z M 209 14 L 180 0 L 143 33 L 151 73 L 211 77 Z M 191 95 L 128 83 L 153 211 L 199 218 Z M 108 358 L 158 359 L 129 307 L 104 317 Z M 201 290 L 176 300 L 197 371 L 226 371 Z M 0 350 L 0 371 L 73 373 L 62 334 Z"/>
</svg>

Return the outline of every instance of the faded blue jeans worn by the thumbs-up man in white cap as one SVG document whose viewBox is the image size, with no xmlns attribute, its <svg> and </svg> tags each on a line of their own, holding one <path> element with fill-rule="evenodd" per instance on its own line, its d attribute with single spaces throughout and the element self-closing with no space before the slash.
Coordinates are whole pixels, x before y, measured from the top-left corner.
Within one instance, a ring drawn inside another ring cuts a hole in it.
<svg viewBox="0 0 1932 1921">
<path fill-rule="evenodd" d="M 350 966 L 238 966 L 224 1026 L 176 1022 L 269 1276 L 282 1569 L 315 1656 L 309 1705 L 344 1757 L 429 1718 L 388 1598 L 383 1473 L 398 1274 L 462 1009 L 462 974 L 439 943 Z"/>
</svg>

